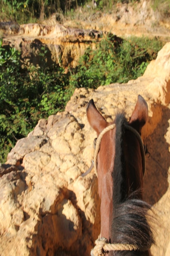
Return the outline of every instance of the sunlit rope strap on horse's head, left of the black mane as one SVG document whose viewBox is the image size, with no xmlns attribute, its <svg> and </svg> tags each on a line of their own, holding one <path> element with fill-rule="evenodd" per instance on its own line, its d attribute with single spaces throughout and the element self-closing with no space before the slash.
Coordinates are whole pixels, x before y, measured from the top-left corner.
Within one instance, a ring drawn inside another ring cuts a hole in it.
<svg viewBox="0 0 170 256">
<path fill-rule="evenodd" d="M 96 148 L 95 148 L 95 155 L 94 155 L 94 169 L 95 169 L 95 174 L 97 176 L 97 155 L 99 153 L 100 150 L 100 142 L 102 140 L 103 135 L 108 132 L 109 130 L 112 130 L 115 128 L 115 124 L 110 124 L 109 126 L 107 126 L 106 128 L 104 128 L 102 130 L 102 132 L 100 132 L 99 136 L 97 137 L 97 141 L 96 141 Z"/>
</svg>

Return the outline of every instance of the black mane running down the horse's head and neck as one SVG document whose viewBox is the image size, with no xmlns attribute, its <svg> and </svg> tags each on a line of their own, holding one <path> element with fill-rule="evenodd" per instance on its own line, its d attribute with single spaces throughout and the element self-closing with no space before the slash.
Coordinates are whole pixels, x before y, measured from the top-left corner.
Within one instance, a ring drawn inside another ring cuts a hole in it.
<svg viewBox="0 0 170 256">
<path fill-rule="evenodd" d="M 150 205 L 138 196 L 141 191 L 127 191 L 126 159 L 124 156 L 124 138 L 127 121 L 123 114 L 116 117 L 115 161 L 113 168 L 113 219 L 111 243 L 128 243 L 137 245 L 138 251 L 117 251 L 109 255 L 146 256 L 154 243 L 152 231 L 148 224 Z M 135 136 L 135 135 L 132 135 Z M 128 145 L 130 150 L 130 145 Z M 135 181 L 134 181 L 135 182 Z"/>
</svg>

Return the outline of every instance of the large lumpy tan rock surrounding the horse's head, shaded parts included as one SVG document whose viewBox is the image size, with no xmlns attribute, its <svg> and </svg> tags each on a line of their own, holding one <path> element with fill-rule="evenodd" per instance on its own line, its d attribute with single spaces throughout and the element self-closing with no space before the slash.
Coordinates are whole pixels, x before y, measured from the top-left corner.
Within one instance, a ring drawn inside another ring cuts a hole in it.
<svg viewBox="0 0 170 256">
<path fill-rule="evenodd" d="M 95 132 L 86 119 L 93 98 L 107 121 L 130 117 L 141 94 L 148 103 L 142 130 L 146 158 L 144 199 L 159 222 L 152 256 L 170 254 L 170 43 L 144 76 L 97 90 L 77 89 L 64 112 L 41 119 L 0 167 L 0 255 L 90 255 L 100 232 L 97 177 L 82 177 L 93 159 Z M 165 232 L 166 231 L 166 232 Z"/>
</svg>

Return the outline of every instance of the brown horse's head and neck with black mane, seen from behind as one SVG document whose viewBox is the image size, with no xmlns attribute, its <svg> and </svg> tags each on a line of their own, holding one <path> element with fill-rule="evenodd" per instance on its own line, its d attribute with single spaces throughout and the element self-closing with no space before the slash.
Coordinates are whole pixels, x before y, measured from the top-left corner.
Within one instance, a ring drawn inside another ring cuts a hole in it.
<svg viewBox="0 0 170 256">
<path fill-rule="evenodd" d="M 141 128 L 148 118 L 148 105 L 139 95 L 129 121 L 124 113 L 120 113 L 115 121 L 108 123 L 91 99 L 86 116 L 97 132 L 97 141 L 100 137 L 96 154 L 101 199 L 100 237 L 107 243 L 127 247 L 113 250 L 102 247 L 103 254 L 100 255 L 148 256 L 154 238 L 148 223 L 150 206 L 142 195 L 145 149 L 141 139 Z M 132 247 L 128 249 L 128 245 Z M 94 252 L 91 255 L 95 256 Z"/>
</svg>

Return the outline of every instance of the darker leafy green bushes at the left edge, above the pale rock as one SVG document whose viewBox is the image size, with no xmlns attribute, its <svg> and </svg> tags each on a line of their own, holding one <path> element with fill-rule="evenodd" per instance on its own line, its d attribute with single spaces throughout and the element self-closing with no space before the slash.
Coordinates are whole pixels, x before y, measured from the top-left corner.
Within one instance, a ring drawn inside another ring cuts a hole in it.
<svg viewBox="0 0 170 256">
<path fill-rule="evenodd" d="M 64 109 L 67 87 L 64 69 L 57 65 L 23 69 L 20 53 L 2 47 L 0 41 L 0 162 L 40 118 Z"/>
</svg>

